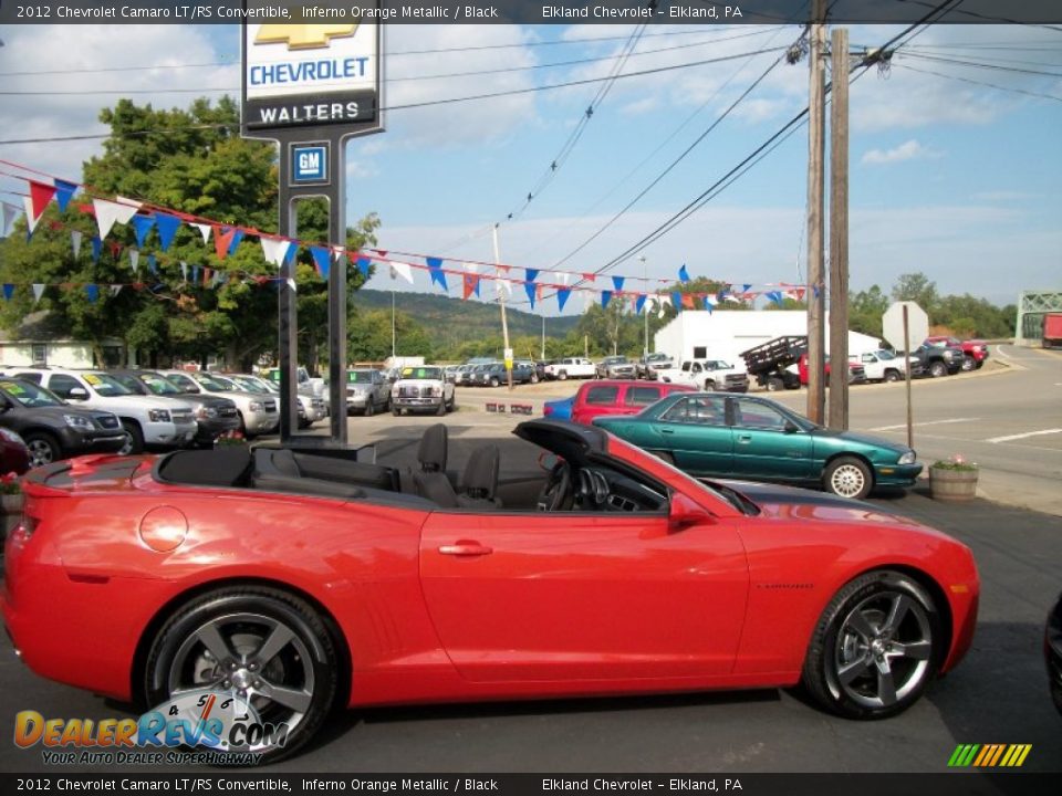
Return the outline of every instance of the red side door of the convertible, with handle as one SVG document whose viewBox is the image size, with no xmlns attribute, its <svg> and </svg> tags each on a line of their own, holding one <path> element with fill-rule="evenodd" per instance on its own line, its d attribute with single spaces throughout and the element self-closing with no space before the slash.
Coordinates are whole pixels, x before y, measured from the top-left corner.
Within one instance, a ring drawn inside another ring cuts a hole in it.
<svg viewBox="0 0 1062 796">
<path fill-rule="evenodd" d="M 732 525 L 670 532 L 665 513 L 435 512 L 420 577 L 477 682 L 729 673 L 749 584 Z"/>
</svg>

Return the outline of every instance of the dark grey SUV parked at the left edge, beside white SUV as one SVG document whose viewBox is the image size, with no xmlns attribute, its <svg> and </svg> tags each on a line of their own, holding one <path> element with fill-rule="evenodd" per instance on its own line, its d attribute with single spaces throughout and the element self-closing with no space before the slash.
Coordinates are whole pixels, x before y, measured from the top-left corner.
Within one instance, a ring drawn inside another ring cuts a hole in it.
<svg viewBox="0 0 1062 796">
<path fill-rule="evenodd" d="M 113 412 L 71 406 L 17 378 L 0 377 L 0 426 L 25 440 L 31 468 L 85 453 L 116 453 L 126 443 Z"/>
</svg>

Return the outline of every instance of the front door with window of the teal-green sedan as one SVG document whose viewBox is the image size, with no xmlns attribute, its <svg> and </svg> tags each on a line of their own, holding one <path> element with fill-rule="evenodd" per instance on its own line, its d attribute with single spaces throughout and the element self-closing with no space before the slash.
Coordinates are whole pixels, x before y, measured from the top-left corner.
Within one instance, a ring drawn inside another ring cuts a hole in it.
<svg viewBox="0 0 1062 796">
<path fill-rule="evenodd" d="M 778 408 L 756 398 L 730 398 L 733 422 L 736 478 L 805 480 L 812 478 L 812 438 L 787 430 L 788 418 Z"/>
</svg>

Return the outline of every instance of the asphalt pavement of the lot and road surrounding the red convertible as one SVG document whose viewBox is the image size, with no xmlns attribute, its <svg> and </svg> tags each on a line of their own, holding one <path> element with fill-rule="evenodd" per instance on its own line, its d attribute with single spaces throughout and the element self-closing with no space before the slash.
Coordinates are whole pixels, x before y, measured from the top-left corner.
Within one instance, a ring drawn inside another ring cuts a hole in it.
<svg viewBox="0 0 1062 796">
<path fill-rule="evenodd" d="M 944 504 L 930 500 L 923 488 L 873 499 L 888 511 L 934 525 L 968 544 L 982 580 L 980 618 L 968 658 L 905 714 L 881 722 L 851 722 L 822 713 L 799 693 L 773 689 L 374 709 L 337 715 L 305 753 L 273 769 L 926 773 L 946 772 L 957 744 L 1028 743 L 1032 751 L 1024 771 L 1062 771 L 1062 718 L 1050 702 L 1042 659 L 1043 621 L 1062 589 L 1058 565 L 1062 561 L 1062 517 L 1058 514 L 1062 512 L 1048 513 L 1058 500 L 1060 434 L 985 441 L 1062 428 L 1058 399 L 1062 374 L 1059 359 L 1039 352 L 1014 350 L 1010 356 L 1017 367 L 999 376 L 916 385 L 917 417 L 925 423 L 916 427 L 916 446 L 947 452 L 959 443 L 979 446 L 966 450 L 981 457 L 991 489 L 1028 480 L 1025 492 L 1038 495 L 1037 501 L 1048 511 L 1028 511 L 983 498 Z M 548 391 L 565 395 L 575 386 L 568 383 L 558 389 L 553 384 L 538 391 L 542 397 Z M 530 392 L 513 395 L 518 397 L 508 397 L 506 390 L 461 391 L 459 411 L 445 420 L 450 429 L 452 468 L 459 470 L 468 451 L 490 439 L 502 451 L 502 479 L 539 471 L 527 446 L 510 433 L 523 418 L 508 411 L 485 411 L 488 397 L 508 405 Z M 891 426 L 894 417 L 902 421 L 902 387 L 861 388 L 853 395 L 853 427 Z M 782 398 L 799 402 L 802 395 Z M 964 400 L 977 408 L 964 406 Z M 929 425 L 946 419 L 938 417 L 945 412 L 952 418 L 978 419 Z M 381 461 L 408 464 L 415 460 L 424 429 L 438 421 L 388 413 L 351 418 L 348 428 L 352 442 L 378 443 Z M 7 641 L 0 642 L 0 681 L 6 685 L 0 695 L 0 721 L 12 722 L 14 713 L 25 709 L 97 720 L 128 714 L 123 705 L 33 675 L 10 652 Z M 11 744 L 0 745 L 0 768 L 50 769 L 40 751 L 25 752 Z"/>
</svg>

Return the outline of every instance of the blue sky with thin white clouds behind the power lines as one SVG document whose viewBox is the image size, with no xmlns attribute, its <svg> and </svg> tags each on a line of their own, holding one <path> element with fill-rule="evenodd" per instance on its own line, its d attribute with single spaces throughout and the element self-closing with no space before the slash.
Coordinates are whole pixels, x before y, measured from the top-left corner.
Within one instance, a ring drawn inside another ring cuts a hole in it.
<svg viewBox="0 0 1062 796">
<path fill-rule="evenodd" d="M 855 25 L 852 50 L 899 30 Z M 674 69 L 402 107 L 606 77 L 633 32 L 616 24 L 388 27 L 384 105 L 393 109 L 385 132 L 347 146 L 348 219 L 377 212 L 381 249 L 450 263 L 493 261 L 499 223 L 501 262 L 539 269 L 542 281 L 611 264 L 603 273 L 626 276 L 626 289 L 637 291 L 643 275 L 675 280 L 685 264 L 690 276 L 753 291 L 802 284 L 805 126 L 669 233 L 635 245 L 805 107 L 806 57 L 769 70 L 777 49 L 798 40 L 795 25 L 650 25 L 621 73 Z M 15 93 L 0 103 L 0 159 L 79 181 L 101 139 L 10 142 L 103 133 L 101 108 L 122 96 L 155 107 L 239 96 L 239 36 L 228 25 L 0 29 L 0 92 Z M 760 50 L 770 52 L 752 54 Z M 714 62 L 689 65 L 704 61 Z M 603 85 L 607 93 L 565 154 Z M 852 84 L 850 124 L 853 290 L 888 291 L 909 272 L 925 273 L 943 294 L 999 305 L 1017 303 L 1022 290 L 1062 289 L 1062 32 L 925 29 L 887 72 L 873 67 Z M 552 178 L 535 190 L 544 175 Z M 12 191 L 24 192 L 24 182 L 0 176 L 0 199 L 21 203 Z M 410 289 L 381 271 L 368 286 Z M 423 272 L 412 289 L 441 293 Z M 449 294 L 460 291 L 450 279 Z M 572 302 L 565 314 L 581 310 Z M 556 303 L 540 301 L 538 311 L 556 314 Z"/>
</svg>

